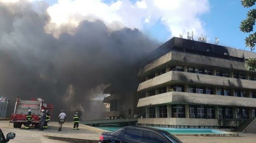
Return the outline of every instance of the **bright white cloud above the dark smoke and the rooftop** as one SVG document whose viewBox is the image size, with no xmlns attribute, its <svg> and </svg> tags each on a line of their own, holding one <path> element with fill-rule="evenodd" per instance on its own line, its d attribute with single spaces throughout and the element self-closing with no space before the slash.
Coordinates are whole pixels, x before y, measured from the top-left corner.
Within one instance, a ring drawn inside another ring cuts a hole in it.
<svg viewBox="0 0 256 143">
<path fill-rule="evenodd" d="M 201 33 L 207 33 L 199 17 L 208 11 L 208 0 L 117 0 L 110 4 L 103 3 L 103 0 L 58 0 L 48 8 L 52 23 L 46 29 L 56 32 L 51 25 L 78 25 L 82 20 L 95 19 L 103 20 L 112 28 L 142 29 L 143 24 L 154 25 L 160 20 L 170 31 L 170 37 L 186 35 L 187 31 L 201 36 Z"/>
</svg>

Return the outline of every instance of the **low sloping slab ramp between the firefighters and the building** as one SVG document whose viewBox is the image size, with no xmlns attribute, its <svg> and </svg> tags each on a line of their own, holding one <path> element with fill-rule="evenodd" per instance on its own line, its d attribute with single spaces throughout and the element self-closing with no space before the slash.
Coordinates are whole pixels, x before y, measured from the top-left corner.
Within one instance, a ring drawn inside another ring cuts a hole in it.
<svg viewBox="0 0 256 143">
<path fill-rule="evenodd" d="M 137 122 L 138 118 L 127 118 L 127 119 L 102 119 L 102 120 L 90 120 L 90 121 L 79 121 L 80 124 L 84 125 L 100 125 L 100 124 L 117 124 L 127 122 Z"/>
</svg>

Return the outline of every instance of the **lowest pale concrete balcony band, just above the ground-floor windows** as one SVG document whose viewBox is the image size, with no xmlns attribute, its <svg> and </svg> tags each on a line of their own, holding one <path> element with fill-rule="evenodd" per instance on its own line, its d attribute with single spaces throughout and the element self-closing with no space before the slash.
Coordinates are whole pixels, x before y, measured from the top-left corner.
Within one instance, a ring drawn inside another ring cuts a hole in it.
<svg viewBox="0 0 256 143">
<path fill-rule="evenodd" d="M 161 104 L 203 104 L 216 106 L 256 107 L 256 98 L 188 92 L 166 92 L 140 98 L 137 107 L 156 106 Z"/>
</svg>

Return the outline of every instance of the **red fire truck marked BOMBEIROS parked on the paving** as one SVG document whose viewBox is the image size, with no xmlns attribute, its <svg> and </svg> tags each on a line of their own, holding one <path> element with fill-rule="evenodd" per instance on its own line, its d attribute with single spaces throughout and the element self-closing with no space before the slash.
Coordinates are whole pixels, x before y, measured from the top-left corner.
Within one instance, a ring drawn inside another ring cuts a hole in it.
<svg viewBox="0 0 256 143">
<path fill-rule="evenodd" d="M 14 113 L 11 116 L 11 123 L 14 128 L 21 128 L 21 125 L 26 125 L 26 117 L 28 110 L 32 110 L 32 125 L 35 125 L 35 128 L 38 128 L 39 124 L 39 113 L 41 110 L 48 110 L 50 116 L 52 116 L 53 106 L 51 104 L 46 104 L 43 98 L 32 98 L 31 100 L 20 100 L 18 97 L 16 98 L 16 104 L 14 108 Z"/>
</svg>

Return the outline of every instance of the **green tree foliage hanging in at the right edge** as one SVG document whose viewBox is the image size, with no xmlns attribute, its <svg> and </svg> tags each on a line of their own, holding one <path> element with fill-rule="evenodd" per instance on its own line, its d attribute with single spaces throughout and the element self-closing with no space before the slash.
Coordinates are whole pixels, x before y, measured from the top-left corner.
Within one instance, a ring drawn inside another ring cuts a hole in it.
<svg viewBox="0 0 256 143">
<path fill-rule="evenodd" d="M 255 5 L 256 0 L 241 0 L 242 6 L 251 7 Z M 256 9 L 251 9 L 247 13 L 247 18 L 243 20 L 240 24 L 240 30 L 244 33 L 250 33 L 253 31 L 253 26 L 255 25 L 256 20 Z M 245 46 L 251 49 L 251 52 L 254 51 L 256 43 L 256 32 L 249 34 L 245 39 Z M 249 58 L 245 62 L 245 67 L 247 70 L 255 71 L 256 69 L 256 58 Z"/>
</svg>

